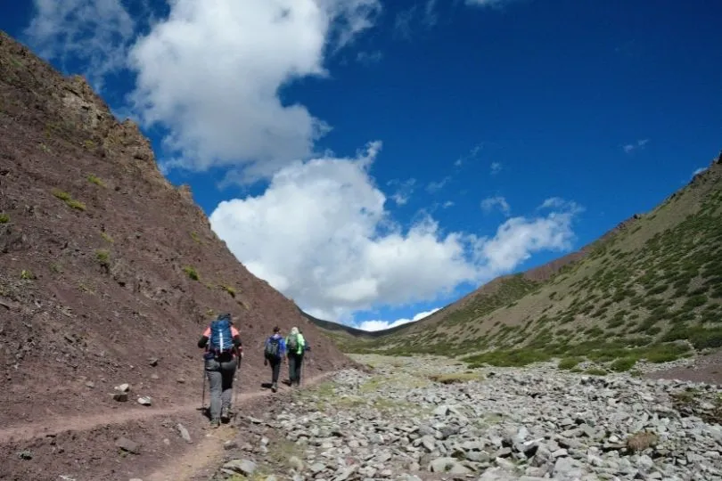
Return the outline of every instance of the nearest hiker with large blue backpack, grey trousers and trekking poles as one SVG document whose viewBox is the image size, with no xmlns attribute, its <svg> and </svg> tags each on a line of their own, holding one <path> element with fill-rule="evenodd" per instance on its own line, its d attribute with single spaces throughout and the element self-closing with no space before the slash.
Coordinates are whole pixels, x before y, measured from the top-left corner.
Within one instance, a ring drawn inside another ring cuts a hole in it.
<svg viewBox="0 0 722 481">
<path fill-rule="evenodd" d="M 235 371 L 241 367 L 243 349 L 241 335 L 234 327 L 231 314 L 221 314 L 203 331 L 198 341 L 205 347 L 205 372 L 210 390 L 210 425 L 231 419 Z"/>
</svg>

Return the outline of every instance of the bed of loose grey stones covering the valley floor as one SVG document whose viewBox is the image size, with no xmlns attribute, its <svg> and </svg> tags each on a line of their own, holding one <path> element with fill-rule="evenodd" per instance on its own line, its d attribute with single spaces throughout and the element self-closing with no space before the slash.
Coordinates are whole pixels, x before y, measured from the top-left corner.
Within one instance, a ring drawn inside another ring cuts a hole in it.
<svg viewBox="0 0 722 481">
<path fill-rule="evenodd" d="M 354 357 L 373 371 L 342 371 L 243 419 L 213 479 L 722 479 L 717 386 Z"/>
</svg>

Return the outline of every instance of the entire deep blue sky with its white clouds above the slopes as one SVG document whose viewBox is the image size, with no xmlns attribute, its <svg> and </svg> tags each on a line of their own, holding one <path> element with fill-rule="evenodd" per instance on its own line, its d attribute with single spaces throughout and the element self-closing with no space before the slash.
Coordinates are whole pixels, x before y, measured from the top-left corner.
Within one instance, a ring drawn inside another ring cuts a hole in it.
<svg viewBox="0 0 722 481">
<path fill-rule="evenodd" d="M 136 119 L 251 272 L 378 329 L 707 167 L 720 20 L 712 0 L 34 0 L 0 28 Z"/>
</svg>

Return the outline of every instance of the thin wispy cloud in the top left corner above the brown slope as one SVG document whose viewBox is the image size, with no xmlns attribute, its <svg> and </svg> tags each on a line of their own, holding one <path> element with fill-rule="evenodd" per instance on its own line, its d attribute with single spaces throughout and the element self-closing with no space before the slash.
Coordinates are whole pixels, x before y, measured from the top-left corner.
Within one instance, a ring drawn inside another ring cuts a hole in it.
<svg viewBox="0 0 722 481">
<path fill-rule="evenodd" d="M 35 16 L 23 32 L 45 59 L 82 61 L 88 81 L 103 90 L 103 77 L 126 65 L 135 21 L 120 0 L 34 0 Z"/>
</svg>

